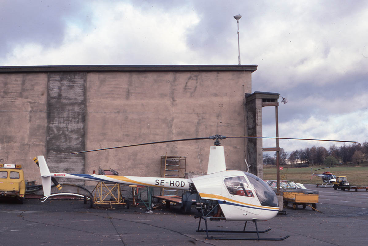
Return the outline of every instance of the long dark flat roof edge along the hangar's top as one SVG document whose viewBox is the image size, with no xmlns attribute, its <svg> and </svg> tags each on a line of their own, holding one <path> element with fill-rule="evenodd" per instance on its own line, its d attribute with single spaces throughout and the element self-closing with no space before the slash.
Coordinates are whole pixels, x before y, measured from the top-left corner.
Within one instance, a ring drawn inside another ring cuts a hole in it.
<svg viewBox="0 0 368 246">
<path fill-rule="evenodd" d="M 61 71 L 251 71 L 258 65 L 50 65 L 0 66 L 0 73 Z"/>
</svg>

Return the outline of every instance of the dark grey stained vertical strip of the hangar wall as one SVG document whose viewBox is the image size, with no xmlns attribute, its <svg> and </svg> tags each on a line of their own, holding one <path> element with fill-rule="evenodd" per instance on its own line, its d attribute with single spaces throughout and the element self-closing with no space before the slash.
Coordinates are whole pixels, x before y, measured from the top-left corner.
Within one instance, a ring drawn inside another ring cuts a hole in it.
<svg viewBox="0 0 368 246">
<path fill-rule="evenodd" d="M 85 173 L 85 156 L 70 152 L 85 150 L 86 73 L 48 74 L 47 165 L 50 170 Z M 68 183 L 83 185 L 84 181 Z"/>
</svg>

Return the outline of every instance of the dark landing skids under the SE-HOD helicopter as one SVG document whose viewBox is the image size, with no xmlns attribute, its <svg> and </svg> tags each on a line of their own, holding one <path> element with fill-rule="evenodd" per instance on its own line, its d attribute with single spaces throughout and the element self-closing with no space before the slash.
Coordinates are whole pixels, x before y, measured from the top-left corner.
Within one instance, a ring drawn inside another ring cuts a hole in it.
<svg viewBox="0 0 368 246">
<path fill-rule="evenodd" d="M 264 230 L 264 231 L 258 231 L 258 227 L 257 227 L 257 220 L 253 219 L 253 222 L 255 224 L 255 228 L 256 231 L 245 231 L 245 227 L 247 226 L 247 221 L 245 221 L 245 225 L 244 225 L 244 229 L 243 231 L 226 231 L 226 230 L 209 230 L 208 226 L 207 226 L 207 218 L 213 218 L 213 217 L 205 217 L 205 216 L 201 216 L 199 217 L 199 223 L 198 223 L 198 229 L 197 232 L 206 232 L 206 239 L 217 239 L 217 240 L 270 240 L 270 241 L 280 241 L 280 240 L 284 240 L 289 238 L 289 236 L 284 236 L 283 238 L 260 238 L 259 237 L 259 233 L 265 233 L 271 230 L 271 228 Z M 201 220 L 205 221 L 205 226 L 206 229 L 199 229 L 201 226 Z M 216 218 L 214 218 L 216 219 Z M 218 218 L 220 219 L 220 218 Z M 223 218 L 221 218 L 223 219 Z M 231 237 L 214 237 L 214 236 L 209 236 L 208 233 L 209 232 L 223 232 L 223 233 L 257 233 L 257 238 L 231 238 Z"/>
</svg>

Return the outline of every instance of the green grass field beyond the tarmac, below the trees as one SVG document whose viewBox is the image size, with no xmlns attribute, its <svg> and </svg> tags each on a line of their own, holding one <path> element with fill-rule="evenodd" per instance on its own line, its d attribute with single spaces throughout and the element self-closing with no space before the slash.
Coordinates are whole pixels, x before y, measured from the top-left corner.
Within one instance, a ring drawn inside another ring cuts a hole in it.
<svg viewBox="0 0 368 246">
<path fill-rule="evenodd" d="M 322 168 L 313 167 L 313 170 Z M 319 170 L 316 173 L 322 173 L 324 170 Z M 329 169 L 336 176 L 346 176 L 350 185 L 366 185 L 368 186 L 368 166 L 336 166 Z M 311 168 L 288 168 L 283 166 L 280 170 L 280 180 L 292 180 L 302 184 L 322 184 L 320 177 L 313 177 L 311 180 Z M 276 166 L 263 166 L 263 179 L 276 180 Z"/>
</svg>

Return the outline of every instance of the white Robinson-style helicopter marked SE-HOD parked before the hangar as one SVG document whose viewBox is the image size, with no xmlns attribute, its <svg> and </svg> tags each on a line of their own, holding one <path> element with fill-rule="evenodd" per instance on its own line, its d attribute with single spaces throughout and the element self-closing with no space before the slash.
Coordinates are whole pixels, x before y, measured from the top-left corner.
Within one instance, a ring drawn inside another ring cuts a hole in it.
<svg viewBox="0 0 368 246">
<path fill-rule="evenodd" d="M 227 171 L 225 164 L 224 147 L 220 146 L 220 141 L 225 138 L 271 138 L 271 137 L 226 137 L 215 135 L 203 138 L 189 138 L 180 140 L 159 141 L 152 143 L 125 145 L 120 147 L 104 148 L 98 150 L 88 150 L 73 152 L 70 154 L 85 153 L 99 150 L 109 150 L 114 148 L 124 148 L 131 146 L 170 143 L 175 141 L 190 140 L 215 140 L 214 146 L 210 147 L 207 174 L 195 178 L 161 178 L 161 177 L 139 177 L 139 176 L 110 176 L 96 174 L 74 174 L 74 173 L 51 173 L 47 167 L 46 160 L 42 155 L 38 156 L 39 168 L 42 179 L 43 192 L 45 197 L 51 196 L 50 187 L 52 178 L 67 178 L 90 180 L 96 182 L 121 183 L 127 185 L 143 185 L 160 188 L 174 188 L 186 190 L 182 196 L 181 210 L 188 212 L 193 204 L 199 214 L 199 224 L 197 232 L 206 232 L 206 239 L 237 239 L 237 240 L 284 240 L 282 238 L 260 238 L 259 233 L 265 233 L 271 229 L 259 231 L 257 221 L 265 221 L 275 217 L 279 211 L 279 203 L 275 192 L 260 178 L 249 172 Z M 289 138 L 283 138 L 289 139 Z M 307 140 L 302 138 L 293 138 Z M 311 139 L 308 139 L 311 140 Z M 322 141 L 340 141 L 340 140 L 322 140 Z M 343 141 L 350 142 L 350 141 Z M 53 179 L 54 181 L 54 179 Z M 57 184 L 56 184 L 57 185 Z M 60 194 L 60 193 L 59 193 Z M 199 229 L 201 220 L 205 222 L 205 230 Z M 207 220 L 234 220 L 245 221 L 244 229 L 240 231 L 220 231 L 209 230 Z M 255 231 L 245 231 L 247 221 L 255 224 Z M 239 233 L 257 233 L 256 238 L 222 238 L 209 237 L 209 232 L 239 232 Z"/>
</svg>

